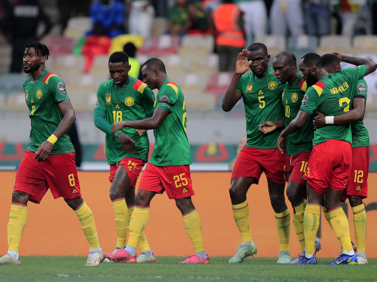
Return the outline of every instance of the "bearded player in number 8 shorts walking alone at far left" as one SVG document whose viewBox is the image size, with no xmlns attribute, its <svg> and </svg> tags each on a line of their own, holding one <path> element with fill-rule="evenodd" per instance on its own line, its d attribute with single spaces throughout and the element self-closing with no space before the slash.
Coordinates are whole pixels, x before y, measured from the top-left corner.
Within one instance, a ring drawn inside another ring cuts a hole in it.
<svg viewBox="0 0 377 282">
<path fill-rule="evenodd" d="M 21 264 L 18 249 L 28 217 L 28 201 L 39 204 L 50 189 L 55 199 L 63 197 L 81 223 L 90 245 L 85 265 L 98 265 L 104 256 L 92 211 L 81 197 L 75 150 L 66 133 L 76 119 L 66 86 L 44 66 L 50 55 L 46 45 L 28 41 L 21 54 L 24 71 L 31 74 L 23 83 L 31 119 L 30 143 L 15 177 L 8 223 L 9 249 L 0 264 Z"/>
</svg>

